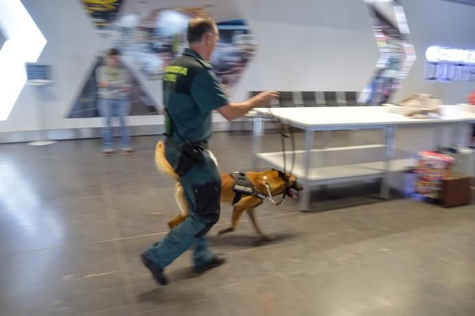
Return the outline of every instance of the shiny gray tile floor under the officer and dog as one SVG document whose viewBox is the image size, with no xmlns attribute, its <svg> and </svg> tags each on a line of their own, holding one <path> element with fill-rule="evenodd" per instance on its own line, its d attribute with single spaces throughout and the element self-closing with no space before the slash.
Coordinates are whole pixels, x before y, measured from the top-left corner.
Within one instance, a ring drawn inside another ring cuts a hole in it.
<svg viewBox="0 0 475 316">
<path fill-rule="evenodd" d="M 381 138 L 335 135 L 337 146 Z M 158 287 L 138 255 L 177 207 L 174 183 L 153 166 L 156 140 L 135 137 L 130 157 L 101 157 L 98 139 L 0 145 L 1 316 L 475 315 L 475 206 L 378 201 L 371 185 L 354 207 L 335 207 L 356 201 L 342 189 L 315 202 L 327 212 L 262 205 L 273 242 L 246 218 L 217 238 L 223 207 L 210 240 L 229 263 L 196 276 L 185 253 L 167 269 L 172 284 Z M 278 149 L 277 137 L 264 146 Z M 216 133 L 212 149 L 222 172 L 249 168 L 251 137 Z"/>
</svg>

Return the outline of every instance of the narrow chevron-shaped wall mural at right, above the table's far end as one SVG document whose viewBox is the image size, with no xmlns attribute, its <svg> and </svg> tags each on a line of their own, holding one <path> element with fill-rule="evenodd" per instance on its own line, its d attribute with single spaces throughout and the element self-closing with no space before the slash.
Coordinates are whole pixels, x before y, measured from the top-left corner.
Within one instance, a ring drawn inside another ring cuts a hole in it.
<svg viewBox="0 0 475 316">
<path fill-rule="evenodd" d="M 416 56 L 410 42 L 409 27 L 399 0 L 365 0 L 373 21 L 373 33 L 380 51 L 376 72 L 362 91 L 362 104 L 380 105 L 389 102 L 401 87 Z"/>
</svg>

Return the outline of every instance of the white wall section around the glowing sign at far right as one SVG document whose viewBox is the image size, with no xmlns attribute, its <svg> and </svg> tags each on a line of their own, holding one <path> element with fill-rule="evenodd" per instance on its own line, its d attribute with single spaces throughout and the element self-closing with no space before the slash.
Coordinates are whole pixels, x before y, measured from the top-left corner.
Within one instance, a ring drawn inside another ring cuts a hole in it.
<svg viewBox="0 0 475 316">
<path fill-rule="evenodd" d="M 466 102 L 475 82 L 423 80 L 426 49 L 432 45 L 475 49 L 475 6 L 441 0 L 403 0 L 417 60 L 396 99 L 429 93 L 445 104 Z"/>
</svg>

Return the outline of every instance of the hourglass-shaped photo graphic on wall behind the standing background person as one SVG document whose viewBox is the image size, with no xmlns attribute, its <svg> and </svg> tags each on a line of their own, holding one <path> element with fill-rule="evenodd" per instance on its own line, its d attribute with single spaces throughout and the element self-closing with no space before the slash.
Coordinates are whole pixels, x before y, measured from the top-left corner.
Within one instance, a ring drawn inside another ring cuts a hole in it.
<svg viewBox="0 0 475 316">
<path fill-rule="evenodd" d="M 73 104 L 69 118 L 80 117 L 99 117 L 100 113 L 97 109 L 98 104 L 98 88 L 95 71 L 97 67 L 104 65 L 105 56 L 111 47 L 118 48 L 119 51 L 123 46 L 121 39 L 124 37 L 121 27 L 117 25 L 117 16 L 119 8 L 124 0 L 81 0 L 86 10 L 91 14 L 93 24 L 97 27 L 100 36 L 100 52 L 95 61 L 91 74 L 84 83 L 84 87 L 79 97 Z M 121 55 L 124 53 L 121 52 Z M 135 69 L 131 69 L 126 63 L 126 56 L 121 56 L 121 67 L 128 72 L 130 80 L 130 92 L 128 100 L 130 102 L 130 112 L 128 115 L 156 115 L 157 106 L 154 104 L 150 95 L 144 91 L 143 87 L 134 74 Z"/>
</svg>

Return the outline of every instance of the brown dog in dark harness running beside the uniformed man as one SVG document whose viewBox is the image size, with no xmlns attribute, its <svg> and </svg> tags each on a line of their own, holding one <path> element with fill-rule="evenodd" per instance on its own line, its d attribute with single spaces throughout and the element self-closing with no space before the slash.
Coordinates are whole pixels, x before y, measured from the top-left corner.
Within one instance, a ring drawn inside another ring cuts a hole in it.
<svg viewBox="0 0 475 316">
<path fill-rule="evenodd" d="M 172 221 L 168 223 L 170 229 L 173 229 L 183 221 L 187 217 L 189 213 L 189 205 L 187 203 L 187 199 L 185 197 L 185 192 L 183 187 L 180 184 L 180 178 L 178 174 L 175 173 L 174 169 L 170 165 L 170 163 L 165 158 L 165 145 L 162 141 L 157 143 L 157 147 L 155 148 L 155 164 L 157 168 L 162 172 L 170 175 L 176 181 L 176 203 L 181 210 L 181 213 L 175 216 Z M 292 190 L 301 191 L 302 187 L 297 183 L 297 178 L 294 177 L 292 174 L 284 174 L 283 172 L 279 172 L 277 170 L 266 170 L 262 172 L 246 172 L 246 176 L 248 177 L 249 181 L 253 184 L 254 188 L 259 191 L 259 193 L 268 196 L 266 184 L 270 190 L 270 194 L 272 196 L 276 196 L 279 194 L 283 194 L 286 191 L 286 194 L 292 196 Z M 235 192 L 233 191 L 233 183 L 234 178 L 231 174 L 221 174 L 221 181 L 222 181 L 222 188 L 221 188 L 221 202 L 222 203 L 233 203 L 233 199 L 235 196 Z M 286 186 L 287 181 L 287 186 Z M 262 199 L 259 199 L 257 196 L 251 195 L 243 195 L 242 199 L 235 203 L 233 206 L 233 216 L 232 216 L 232 225 L 226 229 L 220 230 L 218 235 L 222 235 L 228 232 L 234 232 L 235 229 L 238 227 L 238 222 L 242 216 L 242 213 L 247 211 L 248 216 L 251 218 L 251 222 L 253 226 L 262 238 L 269 240 L 271 239 L 270 236 L 262 232 L 262 229 L 259 227 L 257 223 L 257 219 L 255 217 L 254 209 L 255 207 L 262 204 Z"/>
</svg>

